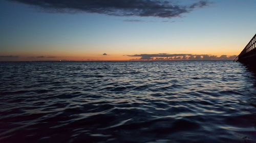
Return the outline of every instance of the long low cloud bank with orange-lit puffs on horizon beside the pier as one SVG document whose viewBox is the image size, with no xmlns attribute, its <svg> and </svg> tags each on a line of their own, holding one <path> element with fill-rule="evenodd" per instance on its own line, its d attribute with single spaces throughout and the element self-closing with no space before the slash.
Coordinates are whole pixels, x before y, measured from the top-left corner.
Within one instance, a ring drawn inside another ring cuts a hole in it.
<svg viewBox="0 0 256 143">
<path fill-rule="evenodd" d="M 140 57 L 140 59 L 133 60 L 234 60 L 237 55 L 208 55 L 208 54 L 168 54 L 168 53 L 158 53 L 158 54 L 134 54 L 127 55 L 133 57 Z"/>
</svg>

